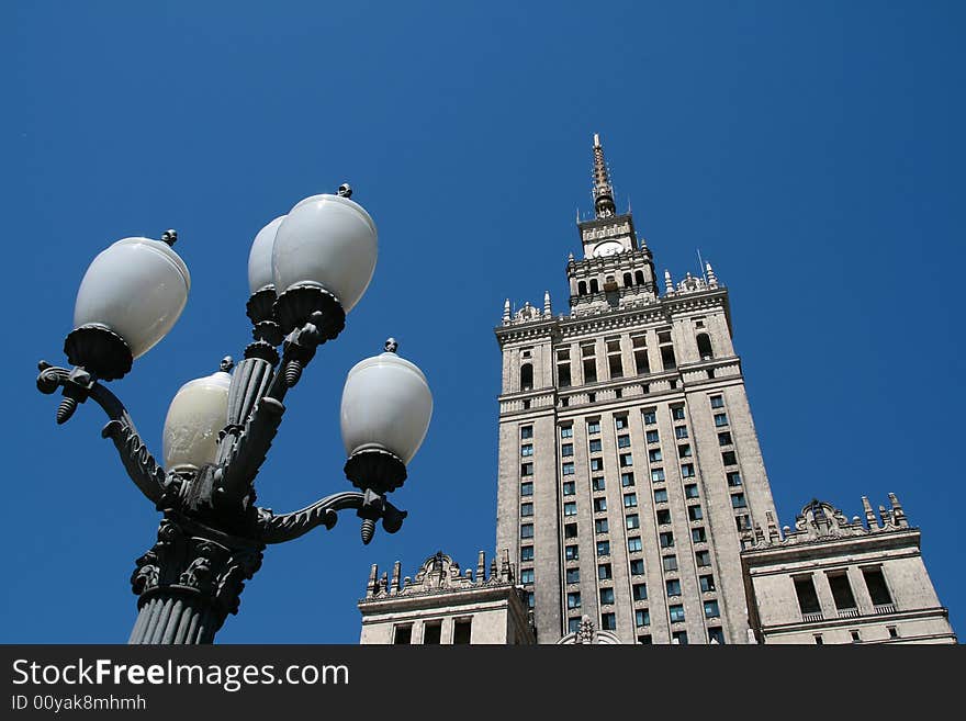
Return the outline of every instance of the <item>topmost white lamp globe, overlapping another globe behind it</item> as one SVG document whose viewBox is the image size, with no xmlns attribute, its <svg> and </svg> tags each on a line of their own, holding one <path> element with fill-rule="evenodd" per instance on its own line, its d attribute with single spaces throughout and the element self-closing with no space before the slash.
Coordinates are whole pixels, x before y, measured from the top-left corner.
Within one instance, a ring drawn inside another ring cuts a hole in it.
<svg viewBox="0 0 966 721">
<path fill-rule="evenodd" d="M 295 285 L 322 286 L 348 313 L 369 286 L 378 255 L 375 223 L 361 205 L 340 195 L 306 198 L 276 234 L 276 293 Z"/>
</svg>

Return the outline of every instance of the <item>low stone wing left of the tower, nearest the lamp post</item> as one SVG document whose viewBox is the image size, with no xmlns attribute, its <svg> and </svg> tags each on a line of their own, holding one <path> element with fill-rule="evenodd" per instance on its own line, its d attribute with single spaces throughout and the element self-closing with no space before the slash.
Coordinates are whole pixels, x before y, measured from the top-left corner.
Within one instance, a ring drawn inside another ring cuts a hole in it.
<svg viewBox="0 0 966 721">
<path fill-rule="evenodd" d="M 362 612 L 362 644 L 527 644 L 533 643 L 529 615 L 516 585 L 508 554 L 490 575 L 483 551 L 476 574 L 443 553 L 426 559 L 415 579 L 392 579 L 373 565 Z"/>
</svg>

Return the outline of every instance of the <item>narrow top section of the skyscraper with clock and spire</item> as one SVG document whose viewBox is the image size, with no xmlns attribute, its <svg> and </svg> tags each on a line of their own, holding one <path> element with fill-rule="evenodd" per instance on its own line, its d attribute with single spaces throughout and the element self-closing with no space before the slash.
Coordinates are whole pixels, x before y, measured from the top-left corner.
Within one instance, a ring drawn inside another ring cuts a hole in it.
<svg viewBox="0 0 966 721">
<path fill-rule="evenodd" d="M 594 135 L 594 217 L 577 218 L 584 249 L 566 268 L 571 309 L 576 315 L 651 303 L 655 298 L 654 263 L 638 239 L 630 212 L 617 213 L 614 187 L 600 136 Z"/>
</svg>

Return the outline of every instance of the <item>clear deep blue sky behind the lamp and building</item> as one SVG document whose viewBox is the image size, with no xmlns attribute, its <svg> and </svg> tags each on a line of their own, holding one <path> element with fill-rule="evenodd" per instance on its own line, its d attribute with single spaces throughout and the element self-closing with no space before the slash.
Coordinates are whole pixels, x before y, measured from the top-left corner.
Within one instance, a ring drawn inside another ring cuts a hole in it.
<svg viewBox="0 0 966 721">
<path fill-rule="evenodd" d="M 595 132 L 659 272 L 695 272 L 700 249 L 730 289 L 780 522 L 815 496 L 851 517 L 898 493 L 962 633 L 964 20 L 957 2 L 3 3 L 0 641 L 124 642 L 155 536 L 99 409 L 56 427 L 34 388 L 38 359 L 65 362 L 87 264 L 179 230 L 188 307 L 113 384 L 159 454 L 177 388 L 248 341 L 255 234 L 344 181 L 379 264 L 289 396 L 259 500 L 347 487 L 341 384 L 393 335 L 436 399 L 394 494 L 409 518 L 369 547 L 350 515 L 270 548 L 220 640 L 355 643 L 370 563 L 492 553 L 492 328 L 505 297 L 566 308 Z"/>
</svg>

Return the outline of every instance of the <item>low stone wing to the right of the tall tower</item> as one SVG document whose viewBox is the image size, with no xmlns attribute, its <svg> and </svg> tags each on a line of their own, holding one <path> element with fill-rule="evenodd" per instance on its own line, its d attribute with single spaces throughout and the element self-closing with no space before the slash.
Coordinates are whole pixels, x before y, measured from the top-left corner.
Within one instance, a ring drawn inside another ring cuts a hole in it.
<svg viewBox="0 0 966 721">
<path fill-rule="evenodd" d="M 847 520 L 812 500 L 780 531 L 768 517 L 741 554 L 761 643 L 956 643 L 895 494 Z"/>
</svg>

